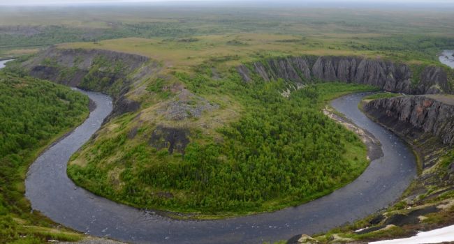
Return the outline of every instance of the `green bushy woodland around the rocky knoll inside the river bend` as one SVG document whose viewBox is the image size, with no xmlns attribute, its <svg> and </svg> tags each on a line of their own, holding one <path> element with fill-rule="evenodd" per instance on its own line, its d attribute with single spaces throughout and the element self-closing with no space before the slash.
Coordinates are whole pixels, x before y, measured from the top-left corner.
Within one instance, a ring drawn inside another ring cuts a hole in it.
<svg viewBox="0 0 454 244">
<path fill-rule="evenodd" d="M 184 155 L 156 151 L 146 141 L 128 139 L 134 117 L 129 114 L 112 122 L 119 125 L 115 135 L 87 144 L 73 157 L 69 176 L 132 206 L 219 216 L 301 204 L 349 183 L 367 166 L 365 146 L 321 108 L 339 94 L 372 87 L 314 84 L 284 98 L 279 93 L 288 86 L 284 81 L 246 84 L 233 72 L 228 82 L 213 87 L 203 68 L 198 70 L 176 76 L 195 93 L 234 94 L 244 106 L 240 119 L 216 130 L 221 143 L 195 130 Z M 161 82 L 149 90 L 159 91 Z M 136 137 L 149 130 L 140 127 Z"/>
</svg>

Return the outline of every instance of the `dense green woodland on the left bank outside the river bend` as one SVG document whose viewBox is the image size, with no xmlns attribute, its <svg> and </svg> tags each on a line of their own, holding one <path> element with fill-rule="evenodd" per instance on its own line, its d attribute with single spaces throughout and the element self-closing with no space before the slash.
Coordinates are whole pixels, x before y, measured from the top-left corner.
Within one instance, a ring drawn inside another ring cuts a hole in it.
<svg viewBox="0 0 454 244">
<path fill-rule="evenodd" d="M 0 72 L 0 243 L 82 238 L 31 213 L 24 179 L 46 146 L 86 118 L 87 105 L 86 96 L 67 87 Z"/>
</svg>

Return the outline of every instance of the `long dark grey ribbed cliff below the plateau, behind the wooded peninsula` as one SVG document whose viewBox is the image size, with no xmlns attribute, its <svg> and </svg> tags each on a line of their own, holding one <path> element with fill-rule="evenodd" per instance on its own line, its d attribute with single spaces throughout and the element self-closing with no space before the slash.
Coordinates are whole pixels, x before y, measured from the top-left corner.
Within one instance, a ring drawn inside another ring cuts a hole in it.
<svg viewBox="0 0 454 244">
<path fill-rule="evenodd" d="M 245 82 L 254 76 L 265 81 L 285 79 L 291 82 L 341 81 L 346 83 L 369 84 L 386 91 L 407 94 L 448 93 L 448 77 L 442 68 L 427 66 L 418 77 L 409 66 L 381 59 L 364 59 L 349 56 L 299 56 L 268 59 L 237 67 Z M 412 86 L 418 80 L 418 85 Z"/>
</svg>

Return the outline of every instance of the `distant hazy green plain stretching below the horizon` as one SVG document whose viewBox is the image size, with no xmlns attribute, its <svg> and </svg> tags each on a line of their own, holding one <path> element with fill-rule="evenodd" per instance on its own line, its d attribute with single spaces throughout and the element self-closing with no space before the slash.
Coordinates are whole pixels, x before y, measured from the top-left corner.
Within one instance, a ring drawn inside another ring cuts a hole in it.
<svg viewBox="0 0 454 244">
<path fill-rule="evenodd" d="M 443 11 L 387 11 L 339 8 L 175 8 L 110 6 L 0 10 L 0 56 L 57 43 L 115 38 L 161 38 L 197 43 L 192 36 L 269 33 L 292 35 L 281 45 L 299 49 L 373 53 L 396 61 L 434 62 L 441 49 L 454 49 L 453 15 Z M 152 17 L 151 17 L 152 16 Z M 175 40 L 175 41 L 174 41 Z M 224 40 L 250 46 L 245 40 Z M 133 47 L 133 46 L 131 46 Z M 263 51 L 269 52 L 270 49 Z"/>
</svg>

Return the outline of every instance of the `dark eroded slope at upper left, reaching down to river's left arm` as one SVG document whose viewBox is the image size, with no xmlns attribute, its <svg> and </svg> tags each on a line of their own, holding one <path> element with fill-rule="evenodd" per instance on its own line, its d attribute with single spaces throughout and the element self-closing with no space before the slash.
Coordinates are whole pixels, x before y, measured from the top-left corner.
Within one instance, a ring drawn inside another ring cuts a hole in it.
<svg viewBox="0 0 454 244">
<path fill-rule="evenodd" d="M 115 110 L 112 116 L 139 109 L 140 102 L 125 95 L 134 82 L 141 82 L 159 69 L 157 63 L 146 56 L 100 49 L 54 47 L 20 66 L 33 77 L 113 96 Z"/>
</svg>

